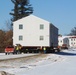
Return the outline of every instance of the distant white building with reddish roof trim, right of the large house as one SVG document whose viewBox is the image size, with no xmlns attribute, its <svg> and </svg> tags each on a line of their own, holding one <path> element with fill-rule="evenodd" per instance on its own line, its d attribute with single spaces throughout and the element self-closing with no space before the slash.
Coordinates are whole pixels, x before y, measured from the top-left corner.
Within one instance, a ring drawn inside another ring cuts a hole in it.
<svg viewBox="0 0 76 75">
<path fill-rule="evenodd" d="M 76 36 L 59 36 L 58 45 L 66 45 L 69 48 L 76 48 Z"/>
</svg>

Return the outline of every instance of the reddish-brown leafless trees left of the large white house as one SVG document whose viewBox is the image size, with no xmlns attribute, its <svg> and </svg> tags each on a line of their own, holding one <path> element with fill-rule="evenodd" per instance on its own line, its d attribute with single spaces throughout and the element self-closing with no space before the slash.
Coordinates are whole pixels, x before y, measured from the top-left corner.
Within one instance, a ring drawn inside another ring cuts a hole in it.
<svg viewBox="0 0 76 75">
<path fill-rule="evenodd" d="M 4 48 L 9 45 L 13 45 L 13 31 L 0 30 L 0 52 L 4 51 Z"/>
</svg>

